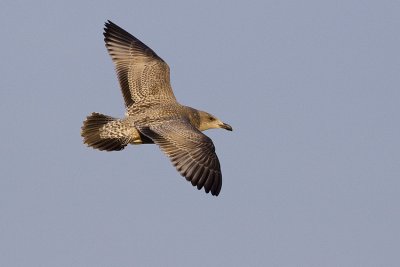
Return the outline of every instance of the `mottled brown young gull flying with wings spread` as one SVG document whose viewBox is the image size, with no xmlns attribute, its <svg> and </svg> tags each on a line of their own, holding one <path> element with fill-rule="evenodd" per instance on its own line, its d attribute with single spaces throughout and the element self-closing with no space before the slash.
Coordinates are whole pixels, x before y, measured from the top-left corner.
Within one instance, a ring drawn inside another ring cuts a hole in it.
<svg viewBox="0 0 400 267">
<path fill-rule="evenodd" d="M 111 21 L 105 23 L 104 41 L 115 64 L 125 118 L 92 113 L 83 122 L 83 142 L 105 151 L 122 150 L 128 144 L 156 144 L 193 186 L 218 196 L 221 167 L 212 140 L 202 131 L 232 131 L 232 127 L 210 113 L 179 104 L 168 64 Z"/>
</svg>

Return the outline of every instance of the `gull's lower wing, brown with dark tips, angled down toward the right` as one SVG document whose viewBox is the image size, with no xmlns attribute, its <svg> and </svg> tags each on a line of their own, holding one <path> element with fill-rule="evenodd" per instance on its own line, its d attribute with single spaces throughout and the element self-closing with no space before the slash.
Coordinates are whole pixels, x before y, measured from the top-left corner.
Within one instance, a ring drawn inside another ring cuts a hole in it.
<svg viewBox="0 0 400 267">
<path fill-rule="evenodd" d="M 179 173 L 200 190 L 218 196 L 222 187 L 221 167 L 210 138 L 184 120 L 139 127 L 171 159 Z"/>
</svg>

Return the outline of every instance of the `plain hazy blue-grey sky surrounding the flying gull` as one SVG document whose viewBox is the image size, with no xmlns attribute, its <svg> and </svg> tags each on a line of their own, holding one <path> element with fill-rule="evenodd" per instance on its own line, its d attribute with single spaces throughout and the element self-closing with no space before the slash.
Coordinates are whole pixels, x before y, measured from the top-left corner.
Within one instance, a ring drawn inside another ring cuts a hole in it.
<svg viewBox="0 0 400 267">
<path fill-rule="evenodd" d="M 0 2 L 0 266 L 400 266 L 398 1 Z M 110 19 L 210 130 L 219 197 L 156 146 L 82 144 L 122 117 Z"/>
</svg>

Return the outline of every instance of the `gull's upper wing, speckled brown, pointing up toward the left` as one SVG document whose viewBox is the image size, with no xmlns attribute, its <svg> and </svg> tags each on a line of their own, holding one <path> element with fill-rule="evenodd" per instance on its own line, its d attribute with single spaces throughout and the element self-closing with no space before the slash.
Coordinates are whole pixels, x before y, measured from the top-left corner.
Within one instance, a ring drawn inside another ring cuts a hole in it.
<svg viewBox="0 0 400 267">
<path fill-rule="evenodd" d="M 134 103 L 176 101 L 169 67 L 139 39 L 108 21 L 104 41 L 117 71 L 125 106 Z"/>
</svg>

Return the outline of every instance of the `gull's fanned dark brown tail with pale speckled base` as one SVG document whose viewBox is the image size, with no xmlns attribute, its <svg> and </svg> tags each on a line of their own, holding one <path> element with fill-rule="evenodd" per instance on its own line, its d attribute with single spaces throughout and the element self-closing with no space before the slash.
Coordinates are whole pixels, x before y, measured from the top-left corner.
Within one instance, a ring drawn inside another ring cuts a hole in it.
<svg viewBox="0 0 400 267">
<path fill-rule="evenodd" d="M 83 142 L 98 150 L 118 151 L 129 143 L 129 135 L 124 134 L 122 122 L 100 113 L 92 113 L 83 122 L 81 136 Z"/>
</svg>

